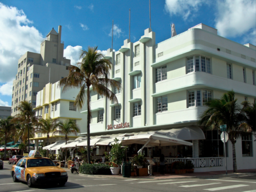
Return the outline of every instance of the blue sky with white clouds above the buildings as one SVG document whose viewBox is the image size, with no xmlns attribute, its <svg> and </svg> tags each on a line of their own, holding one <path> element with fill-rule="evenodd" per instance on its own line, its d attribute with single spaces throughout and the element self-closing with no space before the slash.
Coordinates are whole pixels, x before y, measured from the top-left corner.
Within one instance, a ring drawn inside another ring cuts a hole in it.
<svg viewBox="0 0 256 192">
<path fill-rule="evenodd" d="M 40 52 L 47 33 L 62 26 L 64 56 L 78 61 L 79 51 L 98 46 L 111 48 L 114 20 L 114 50 L 129 38 L 136 42 L 149 28 L 148 0 L 98 1 L 1 1 L 0 0 L 0 106 L 11 105 L 12 81 L 18 58 L 26 51 Z M 256 45 L 255 0 L 151 0 L 151 28 L 156 43 L 171 37 L 174 23 L 177 34 L 199 23 L 218 29 L 218 35 L 238 43 Z"/>
</svg>

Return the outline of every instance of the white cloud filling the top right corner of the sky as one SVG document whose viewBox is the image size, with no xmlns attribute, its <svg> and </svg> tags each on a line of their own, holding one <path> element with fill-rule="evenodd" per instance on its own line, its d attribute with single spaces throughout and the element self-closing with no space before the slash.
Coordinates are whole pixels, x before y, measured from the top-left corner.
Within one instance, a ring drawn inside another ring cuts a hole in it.
<svg viewBox="0 0 256 192">
<path fill-rule="evenodd" d="M 225 0 L 217 1 L 215 27 L 220 36 L 246 36 L 256 28 L 255 0 Z M 255 31 L 254 31 L 255 32 Z M 255 36 L 254 36 L 255 40 Z"/>
</svg>

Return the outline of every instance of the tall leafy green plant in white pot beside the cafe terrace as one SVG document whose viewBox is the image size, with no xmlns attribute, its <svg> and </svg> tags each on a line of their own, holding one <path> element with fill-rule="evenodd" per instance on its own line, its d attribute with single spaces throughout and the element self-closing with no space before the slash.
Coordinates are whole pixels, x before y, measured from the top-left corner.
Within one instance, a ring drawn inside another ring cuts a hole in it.
<svg viewBox="0 0 256 192">
<path fill-rule="evenodd" d="M 125 150 L 127 149 L 127 147 L 122 147 L 122 144 L 118 143 L 118 139 L 115 139 L 114 141 L 115 143 L 112 144 L 112 148 L 109 155 L 106 155 L 106 159 L 109 159 L 110 162 L 112 162 L 110 168 L 112 175 L 118 175 L 122 160 L 125 158 Z M 115 164 L 115 166 L 113 163 Z"/>
</svg>

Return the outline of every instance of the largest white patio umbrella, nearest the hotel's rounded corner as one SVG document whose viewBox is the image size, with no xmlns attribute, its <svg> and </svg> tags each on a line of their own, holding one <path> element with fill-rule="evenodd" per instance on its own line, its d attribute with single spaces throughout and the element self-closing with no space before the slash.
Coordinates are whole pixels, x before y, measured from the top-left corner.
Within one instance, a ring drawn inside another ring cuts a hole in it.
<svg viewBox="0 0 256 192">
<path fill-rule="evenodd" d="M 128 138 L 122 140 L 122 144 L 144 144 L 142 148 L 138 151 L 142 152 L 147 145 L 152 146 L 170 146 L 170 145 L 193 145 L 191 142 L 187 142 L 181 139 L 177 139 L 175 137 L 171 137 L 166 135 L 163 132 L 148 132 L 147 134 L 129 136 Z"/>
</svg>

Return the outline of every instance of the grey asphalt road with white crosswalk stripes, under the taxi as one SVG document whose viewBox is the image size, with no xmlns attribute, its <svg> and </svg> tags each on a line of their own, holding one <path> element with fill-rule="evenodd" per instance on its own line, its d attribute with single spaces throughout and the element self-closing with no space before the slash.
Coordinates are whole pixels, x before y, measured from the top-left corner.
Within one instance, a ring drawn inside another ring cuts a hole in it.
<svg viewBox="0 0 256 192">
<path fill-rule="evenodd" d="M 99 177 L 87 177 L 79 174 L 71 174 L 68 171 L 68 181 L 65 186 L 37 186 L 28 188 L 26 183 L 13 183 L 10 174 L 12 165 L 4 164 L 0 170 L 0 191 L 232 191 L 232 192 L 256 192 L 256 176 L 241 176 L 239 178 L 219 179 L 110 179 Z"/>
</svg>

